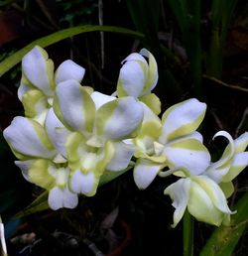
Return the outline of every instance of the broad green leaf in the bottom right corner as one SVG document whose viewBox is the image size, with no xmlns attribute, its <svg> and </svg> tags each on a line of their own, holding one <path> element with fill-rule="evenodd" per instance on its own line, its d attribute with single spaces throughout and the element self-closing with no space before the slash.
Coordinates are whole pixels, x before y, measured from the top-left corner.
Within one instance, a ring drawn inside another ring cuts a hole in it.
<svg viewBox="0 0 248 256">
<path fill-rule="evenodd" d="M 236 203 L 237 213 L 231 216 L 230 226 L 215 229 L 200 256 L 231 256 L 248 223 L 248 192 Z"/>
</svg>

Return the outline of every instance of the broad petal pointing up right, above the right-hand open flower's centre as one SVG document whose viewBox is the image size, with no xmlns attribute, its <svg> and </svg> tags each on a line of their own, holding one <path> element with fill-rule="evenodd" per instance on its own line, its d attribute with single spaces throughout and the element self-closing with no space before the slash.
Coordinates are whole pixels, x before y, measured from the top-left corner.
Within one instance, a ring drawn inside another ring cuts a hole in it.
<svg viewBox="0 0 248 256">
<path fill-rule="evenodd" d="M 164 144 L 195 131 L 204 118 L 206 104 L 195 98 L 170 107 L 162 116 Z"/>
</svg>

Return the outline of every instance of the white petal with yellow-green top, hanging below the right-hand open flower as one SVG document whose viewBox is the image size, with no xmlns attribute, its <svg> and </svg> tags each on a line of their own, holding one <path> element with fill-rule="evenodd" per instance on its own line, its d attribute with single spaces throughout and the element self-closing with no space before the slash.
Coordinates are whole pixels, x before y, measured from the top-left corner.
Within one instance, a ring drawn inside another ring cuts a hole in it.
<svg viewBox="0 0 248 256">
<path fill-rule="evenodd" d="M 134 182 L 140 190 L 145 190 L 154 181 L 162 165 L 150 160 L 138 159 L 134 168 Z"/>
</svg>

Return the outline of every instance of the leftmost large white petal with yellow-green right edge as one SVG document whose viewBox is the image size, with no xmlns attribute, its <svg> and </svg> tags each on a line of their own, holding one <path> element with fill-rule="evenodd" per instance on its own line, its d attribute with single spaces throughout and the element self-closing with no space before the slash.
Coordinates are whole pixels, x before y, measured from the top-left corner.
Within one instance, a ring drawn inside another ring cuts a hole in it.
<svg viewBox="0 0 248 256">
<path fill-rule="evenodd" d="M 12 149 L 22 155 L 51 159 L 56 154 L 44 127 L 32 119 L 15 117 L 3 135 Z"/>
</svg>

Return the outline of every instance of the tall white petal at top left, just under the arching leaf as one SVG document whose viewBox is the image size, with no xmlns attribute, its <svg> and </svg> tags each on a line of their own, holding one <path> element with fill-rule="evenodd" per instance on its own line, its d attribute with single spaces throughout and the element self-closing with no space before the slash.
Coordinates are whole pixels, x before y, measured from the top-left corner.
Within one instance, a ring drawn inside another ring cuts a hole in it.
<svg viewBox="0 0 248 256">
<path fill-rule="evenodd" d="M 46 95 L 54 94 L 54 63 L 47 52 L 36 46 L 22 60 L 22 70 L 27 79 Z"/>
</svg>

